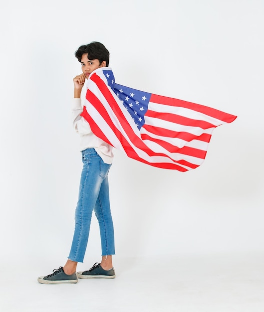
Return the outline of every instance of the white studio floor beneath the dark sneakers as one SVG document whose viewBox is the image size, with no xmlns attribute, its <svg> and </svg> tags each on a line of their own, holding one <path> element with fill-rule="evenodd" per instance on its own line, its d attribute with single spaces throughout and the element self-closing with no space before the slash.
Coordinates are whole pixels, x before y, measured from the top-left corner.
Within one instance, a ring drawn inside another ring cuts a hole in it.
<svg viewBox="0 0 264 312">
<path fill-rule="evenodd" d="M 264 255 L 120 259 L 116 279 L 42 285 L 50 263 L 1 270 L 1 312 L 263 312 Z M 91 263 L 88 267 L 91 267 Z M 78 270 L 89 269 L 80 264 Z M 21 273 L 22 271 L 22 273 Z"/>
</svg>

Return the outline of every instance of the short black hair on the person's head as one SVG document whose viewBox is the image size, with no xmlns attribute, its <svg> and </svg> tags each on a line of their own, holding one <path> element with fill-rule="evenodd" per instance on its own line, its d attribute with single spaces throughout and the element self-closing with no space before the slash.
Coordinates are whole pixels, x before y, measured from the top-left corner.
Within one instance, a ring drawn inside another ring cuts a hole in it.
<svg viewBox="0 0 264 312">
<path fill-rule="evenodd" d="M 98 59 L 100 65 L 103 61 L 106 61 L 106 66 L 109 65 L 109 51 L 102 43 L 92 41 L 89 44 L 81 45 L 78 50 L 75 51 L 75 57 L 79 62 L 81 61 L 82 55 L 85 53 L 88 53 L 89 60 Z"/>
</svg>

